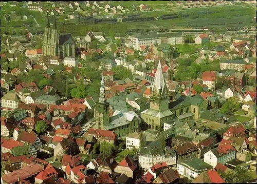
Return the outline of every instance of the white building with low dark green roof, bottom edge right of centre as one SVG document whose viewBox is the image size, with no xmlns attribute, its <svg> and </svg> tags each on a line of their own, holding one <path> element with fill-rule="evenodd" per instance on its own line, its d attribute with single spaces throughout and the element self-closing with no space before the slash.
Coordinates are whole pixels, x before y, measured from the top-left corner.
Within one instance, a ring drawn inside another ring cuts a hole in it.
<svg viewBox="0 0 257 184">
<path fill-rule="evenodd" d="M 202 172 L 211 170 L 212 166 L 199 158 L 183 158 L 177 161 L 177 171 L 179 175 L 189 179 L 195 179 Z"/>
</svg>

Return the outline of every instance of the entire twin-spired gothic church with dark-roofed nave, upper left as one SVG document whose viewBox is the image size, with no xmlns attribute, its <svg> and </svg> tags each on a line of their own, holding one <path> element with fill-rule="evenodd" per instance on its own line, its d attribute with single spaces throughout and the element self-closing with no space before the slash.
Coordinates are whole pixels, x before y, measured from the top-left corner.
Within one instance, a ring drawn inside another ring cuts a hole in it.
<svg viewBox="0 0 257 184">
<path fill-rule="evenodd" d="M 47 13 L 43 37 L 43 56 L 59 56 L 61 59 L 64 59 L 65 57 L 75 57 L 75 49 L 75 41 L 71 34 L 59 35 L 55 15 L 53 27 L 50 28 Z"/>
</svg>

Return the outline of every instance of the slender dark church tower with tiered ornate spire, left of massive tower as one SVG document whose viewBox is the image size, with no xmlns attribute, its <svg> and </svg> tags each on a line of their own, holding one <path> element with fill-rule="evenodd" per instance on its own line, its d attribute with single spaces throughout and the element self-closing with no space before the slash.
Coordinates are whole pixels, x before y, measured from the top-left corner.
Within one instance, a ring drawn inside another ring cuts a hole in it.
<svg viewBox="0 0 257 184">
<path fill-rule="evenodd" d="M 98 103 L 96 103 L 95 108 L 95 118 L 96 118 L 96 128 L 105 129 L 104 125 L 108 124 L 109 118 L 109 103 L 105 98 L 104 80 L 102 75 L 101 87 L 100 87 L 100 97 Z"/>
</svg>

